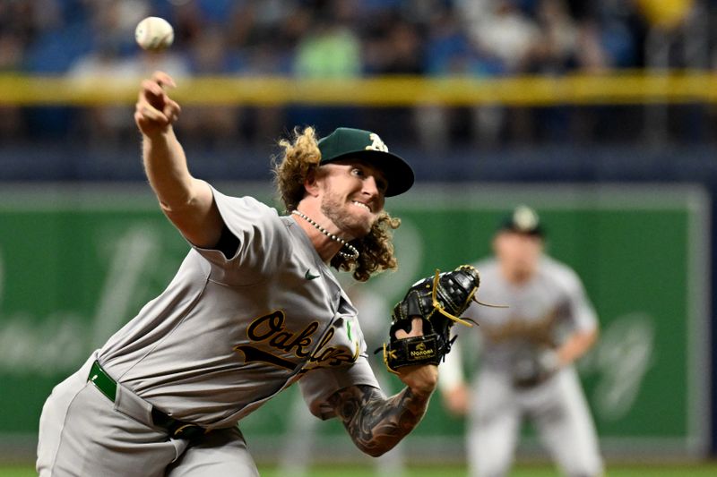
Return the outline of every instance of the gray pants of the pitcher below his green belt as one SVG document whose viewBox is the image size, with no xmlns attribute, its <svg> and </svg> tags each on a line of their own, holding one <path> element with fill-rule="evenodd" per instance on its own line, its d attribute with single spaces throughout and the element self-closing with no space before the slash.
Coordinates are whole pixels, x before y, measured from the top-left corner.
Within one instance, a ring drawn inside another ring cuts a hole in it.
<svg viewBox="0 0 717 477">
<path fill-rule="evenodd" d="M 90 359 L 53 389 L 39 420 L 40 477 L 259 475 L 237 427 L 200 438 L 169 439 L 151 422 L 151 405 L 126 388 L 113 403 L 87 376 Z"/>
</svg>

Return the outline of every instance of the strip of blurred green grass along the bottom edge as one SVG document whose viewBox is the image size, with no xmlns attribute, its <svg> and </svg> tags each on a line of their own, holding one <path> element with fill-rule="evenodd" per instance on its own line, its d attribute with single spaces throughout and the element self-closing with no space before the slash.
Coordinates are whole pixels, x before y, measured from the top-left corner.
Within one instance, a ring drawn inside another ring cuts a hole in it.
<svg viewBox="0 0 717 477">
<path fill-rule="evenodd" d="M 291 477 L 280 475 L 275 469 L 263 466 L 262 477 Z M 32 465 L 0 466 L 0 477 L 31 477 L 35 476 Z M 312 469 L 305 477 L 371 477 L 373 469 L 355 465 L 336 465 Z M 467 474 L 462 466 L 425 465 L 411 467 L 406 477 L 465 477 Z M 557 477 L 559 474 L 549 465 L 519 465 L 510 477 Z M 717 463 L 709 464 L 613 464 L 609 465 L 605 477 L 714 477 L 717 475 Z M 134 477 L 134 476 L 133 476 Z"/>
</svg>

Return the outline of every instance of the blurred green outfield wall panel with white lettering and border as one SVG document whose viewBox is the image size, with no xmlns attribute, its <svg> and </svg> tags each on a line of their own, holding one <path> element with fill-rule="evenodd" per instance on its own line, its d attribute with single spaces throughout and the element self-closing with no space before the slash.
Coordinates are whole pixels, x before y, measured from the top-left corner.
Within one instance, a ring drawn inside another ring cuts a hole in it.
<svg viewBox="0 0 717 477">
<path fill-rule="evenodd" d="M 271 200 L 265 186 L 220 189 Z M 549 252 L 583 277 L 599 313 L 600 341 L 579 371 L 606 453 L 703 456 L 710 224 L 709 198 L 699 187 L 436 184 L 388 200 L 403 221 L 395 236 L 401 268 L 349 287 L 359 310 L 379 318 L 366 318 L 369 349 L 381 345 L 387 313 L 408 285 L 435 268 L 484 257 L 499 218 L 518 203 L 539 210 Z M 142 185 L 0 192 L 3 442 L 34 446 L 52 387 L 160 293 L 187 248 Z M 387 392 L 398 390 L 397 379 L 372 359 Z M 316 445 L 343 434 L 337 422 L 307 419 L 299 399 L 289 389 L 246 418 L 250 446 L 311 430 Z M 435 398 L 405 448 L 424 456 L 445 447 L 460 452 L 462 431 L 463 422 Z M 337 440 L 350 446 L 348 438 Z M 305 452 L 312 440 L 302 445 L 287 452 Z"/>
</svg>

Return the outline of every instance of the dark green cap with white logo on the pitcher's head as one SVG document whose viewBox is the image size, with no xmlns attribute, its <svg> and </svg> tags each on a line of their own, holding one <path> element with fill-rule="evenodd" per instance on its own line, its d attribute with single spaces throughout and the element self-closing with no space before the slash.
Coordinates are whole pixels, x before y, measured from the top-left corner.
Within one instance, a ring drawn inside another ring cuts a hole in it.
<svg viewBox="0 0 717 477">
<path fill-rule="evenodd" d="M 402 194 L 413 185 L 413 169 L 401 157 L 388 151 L 388 147 L 375 132 L 353 128 L 336 128 L 318 142 L 320 164 L 342 159 L 365 159 L 384 172 L 388 187 L 386 197 Z"/>
</svg>

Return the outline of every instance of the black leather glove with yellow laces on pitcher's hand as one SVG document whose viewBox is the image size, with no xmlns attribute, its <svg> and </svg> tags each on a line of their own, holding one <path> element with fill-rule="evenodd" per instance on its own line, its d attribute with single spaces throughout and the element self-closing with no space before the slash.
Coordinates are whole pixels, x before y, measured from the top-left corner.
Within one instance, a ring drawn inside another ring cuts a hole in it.
<svg viewBox="0 0 717 477">
<path fill-rule="evenodd" d="M 384 344 L 384 362 L 389 371 L 403 366 L 438 364 L 451 351 L 454 323 L 472 327 L 471 319 L 461 319 L 463 311 L 475 300 L 480 285 L 478 270 L 462 265 L 453 271 L 426 277 L 411 285 L 391 314 L 389 343 Z M 397 338 L 396 331 L 411 328 L 411 320 L 423 321 L 423 336 Z"/>
</svg>

